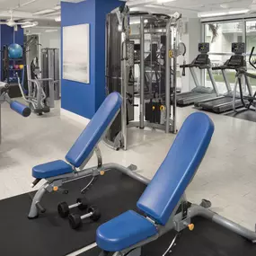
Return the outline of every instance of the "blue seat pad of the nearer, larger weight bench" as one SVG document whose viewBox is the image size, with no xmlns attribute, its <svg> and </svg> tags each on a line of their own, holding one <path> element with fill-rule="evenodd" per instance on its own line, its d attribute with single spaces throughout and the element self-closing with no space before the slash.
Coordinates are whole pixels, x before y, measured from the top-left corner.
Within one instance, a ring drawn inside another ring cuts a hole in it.
<svg viewBox="0 0 256 256">
<path fill-rule="evenodd" d="M 101 225 L 97 230 L 97 244 L 107 252 L 119 252 L 157 234 L 156 227 L 144 216 L 128 211 Z"/>
</svg>

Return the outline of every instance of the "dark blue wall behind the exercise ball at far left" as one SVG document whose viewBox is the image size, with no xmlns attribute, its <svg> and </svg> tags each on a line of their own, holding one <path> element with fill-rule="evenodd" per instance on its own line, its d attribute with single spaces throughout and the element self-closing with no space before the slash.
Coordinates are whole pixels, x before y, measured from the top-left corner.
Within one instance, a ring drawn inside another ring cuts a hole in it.
<svg viewBox="0 0 256 256">
<path fill-rule="evenodd" d="M 10 45 L 12 43 L 17 43 L 23 46 L 23 29 L 19 26 L 18 31 L 14 31 L 14 28 L 12 27 L 9 27 L 7 25 L 0 25 L 0 48 L 3 49 L 4 45 Z M 2 71 L 2 61 L 0 61 L 0 70 Z M 2 72 L 0 72 L 0 80 L 2 80 Z"/>
</svg>

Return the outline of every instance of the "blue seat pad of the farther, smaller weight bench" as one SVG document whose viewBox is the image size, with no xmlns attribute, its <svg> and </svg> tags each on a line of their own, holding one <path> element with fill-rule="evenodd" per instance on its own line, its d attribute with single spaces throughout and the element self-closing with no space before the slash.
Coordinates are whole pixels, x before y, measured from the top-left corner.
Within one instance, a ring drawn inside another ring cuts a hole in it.
<svg viewBox="0 0 256 256">
<path fill-rule="evenodd" d="M 36 179 L 47 179 L 73 172 L 72 166 L 64 161 L 57 160 L 35 166 L 32 169 L 32 176 Z"/>
</svg>

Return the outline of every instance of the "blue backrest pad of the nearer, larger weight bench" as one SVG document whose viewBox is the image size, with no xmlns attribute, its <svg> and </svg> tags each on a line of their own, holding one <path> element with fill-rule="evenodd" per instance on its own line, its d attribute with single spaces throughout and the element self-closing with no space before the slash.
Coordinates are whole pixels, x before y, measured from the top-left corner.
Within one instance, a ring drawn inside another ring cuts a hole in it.
<svg viewBox="0 0 256 256">
<path fill-rule="evenodd" d="M 184 122 L 169 153 L 137 202 L 137 207 L 165 225 L 207 152 L 214 124 L 204 113 Z"/>
</svg>

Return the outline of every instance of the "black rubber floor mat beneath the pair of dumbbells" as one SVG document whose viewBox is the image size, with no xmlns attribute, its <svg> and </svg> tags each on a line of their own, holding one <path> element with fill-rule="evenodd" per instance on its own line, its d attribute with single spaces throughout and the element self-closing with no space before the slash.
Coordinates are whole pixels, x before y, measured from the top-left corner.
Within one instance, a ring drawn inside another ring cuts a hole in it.
<svg viewBox="0 0 256 256">
<path fill-rule="evenodd" d="M 135 209 L 137 199 L 146 186 L 117 171 L 106 172 L 86 192 L 86 198 L 97 205 L 102 218 L 97 223 L 84 221 L 79 230 L 72 230 L 67 219 L 57 215 L 57 204 L 69 204 L 81 197 L 80 190 L 90 178 L 67 183 L 68 195 L 48 193 L 42 200 L 47 212 L 37 219 L 29 220 L 31 206 L 28 194 L 0 201 L 0 254 L 3 256 L 63 256 L 75 252 L 95 241 L 99 225 L 115 216 Z M 77 210 L 78 213 L 79 210 Z"/>
</svg>

